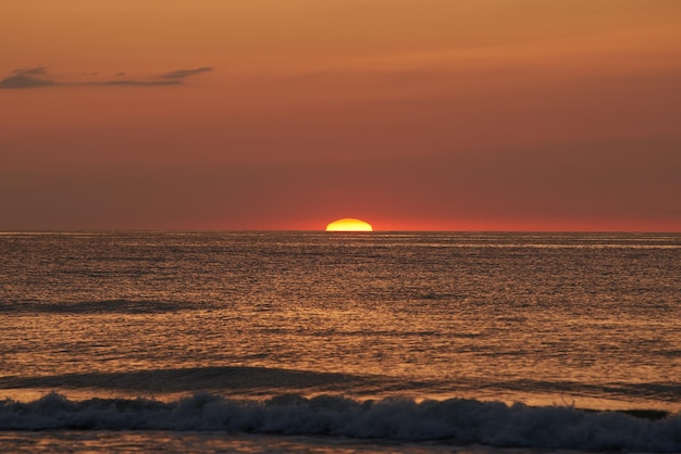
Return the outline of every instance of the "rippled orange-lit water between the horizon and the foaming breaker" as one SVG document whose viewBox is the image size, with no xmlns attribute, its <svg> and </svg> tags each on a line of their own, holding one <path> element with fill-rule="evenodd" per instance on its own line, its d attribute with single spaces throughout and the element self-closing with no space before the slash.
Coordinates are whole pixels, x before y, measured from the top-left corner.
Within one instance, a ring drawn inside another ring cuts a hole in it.
<svg viewBox="0 0 681 454">
<path fill-rule="evenodd" d="M 681 411 L 681 235 L 5 232 L 0 254 L 12 402 Z"/>
</svg>

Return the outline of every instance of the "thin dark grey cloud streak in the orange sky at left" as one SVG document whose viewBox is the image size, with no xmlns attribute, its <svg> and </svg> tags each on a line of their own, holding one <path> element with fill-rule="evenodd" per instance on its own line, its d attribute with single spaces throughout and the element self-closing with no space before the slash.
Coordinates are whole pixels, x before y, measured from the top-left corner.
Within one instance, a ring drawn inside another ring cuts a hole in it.
<svg viewBox="0 0 681 454">
<path fill-rule="evenodd" d="M 193 76 L 199 73 L 206 73 L 212 71 L 211 67 L 203 66 L 195 70 L 177 70 L 170 73 L 162 74 L 157 77 L 156 80 L 137 80 L 137 79 L 113 79 L 113 80 L 100 80 L 100 81 L 58 81 L 47 76 L 47 68 L 45 66 L 36 66 L 29 68 L 14 70 L 9 77 L 0 80 L 0 89 L 22 89 L 22 88 L 39 88 L 39 87 L 57 87 L 57 86 L 137 86 L 137 87 L 153 87 L 164 85 L 181 85 L 186 77 Z M 83 73 L 84 76 L 97 75 L 97 73 Z M 117 73 L 115 76 L 124 76 L 125 73 Z M 159 80 L 164 79 L 164 80 Z"/>
</svg>

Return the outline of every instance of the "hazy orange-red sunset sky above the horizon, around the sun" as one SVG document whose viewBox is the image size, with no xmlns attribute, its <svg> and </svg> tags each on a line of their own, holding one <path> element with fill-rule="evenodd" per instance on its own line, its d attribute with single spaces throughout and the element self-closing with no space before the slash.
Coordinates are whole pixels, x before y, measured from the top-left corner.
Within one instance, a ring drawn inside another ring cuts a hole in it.
<svg viewBox="0 0 681 454">
<path fill-rule="evenodd" d="M 681 231 L 681 1 L 0 1 L 0 230 Z"/>
</svg>

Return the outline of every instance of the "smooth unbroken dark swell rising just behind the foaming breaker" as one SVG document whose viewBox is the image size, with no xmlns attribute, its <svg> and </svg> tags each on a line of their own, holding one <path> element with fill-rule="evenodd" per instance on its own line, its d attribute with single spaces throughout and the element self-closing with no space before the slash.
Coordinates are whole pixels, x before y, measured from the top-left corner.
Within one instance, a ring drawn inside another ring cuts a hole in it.
<svg viewBox="0 0 681 454">
<path fill-rule="evenodd" d="M 312 371 L 262 366 L 201 366 L 157 368 L 127 371 L 88 371 L 57 375 L 21 376 L 7 375 L 0 377 L 2 389 L 40 389 L 77 390 L 101 389 L 127 391 L 128 395 L 137 393 L 154 395 L 154 393 L 189 393 L 219 392 L 222 395 L 272 395 L 274 393 L 302 393 L 306 395 L 321 393 L 347 393 L 352 395 L 375 396 L 385 393 L 400 395 L 441 395 L 451 396 L 467 393 L 476 395 L 481 390 L 492 393 L 535 393 L 550 394 L 562 399 L 564 404 L 571 399 L 610 399 L 631 401 L 654 401 L 668 403 L 673 407 L 681 400 L 681 383 L 676 382 L 606 382 L 584 383 L 567 380 L 504 380 L 486 381 L 457 377 L 456 383 L 450 379 L 405 379 L 369 374 L 347 374 L 332 371 Z M 488 394 L 487 394 L 488 395 Z"/>
</svg>

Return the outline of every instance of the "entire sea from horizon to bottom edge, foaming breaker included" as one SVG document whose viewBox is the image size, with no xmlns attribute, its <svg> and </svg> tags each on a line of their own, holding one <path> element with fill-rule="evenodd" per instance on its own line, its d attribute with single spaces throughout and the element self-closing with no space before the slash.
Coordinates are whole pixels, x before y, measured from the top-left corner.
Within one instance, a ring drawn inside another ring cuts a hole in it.
<svg viewBox="0 0 681 454">
<path fill-rule="evenodd" d="M 0 234 L 2 452 L 681 452 L 680 412 L 678 234 Z"/>
</svg>

